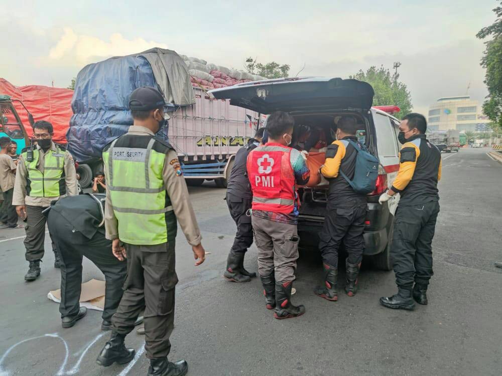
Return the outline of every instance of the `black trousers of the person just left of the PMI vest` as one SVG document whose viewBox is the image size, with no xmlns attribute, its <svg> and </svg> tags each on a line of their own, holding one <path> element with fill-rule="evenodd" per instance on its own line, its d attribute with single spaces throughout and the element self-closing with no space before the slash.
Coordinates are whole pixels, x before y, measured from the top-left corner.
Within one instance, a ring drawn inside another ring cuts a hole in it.
<svg viewBox="0 0 502 376">
<path fill-rule="evenodd" d="M 251 209 L 252 199 L 241 199 L 231 194 L 227 194 L 225 199 L 228 210 L 230 211 L 230 216 L 235 222 L 235 225 L 237 225 L 237 232 L 230 251 L 245 253 L 253 244 L 251 217 L 246 216 L 246 212 Z"/>
</svg>

